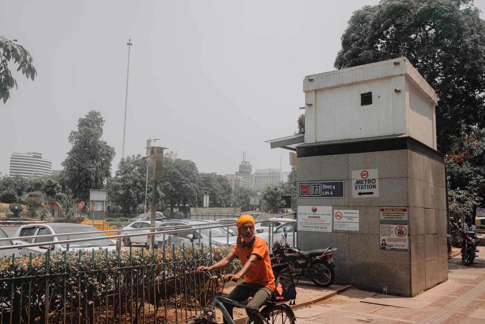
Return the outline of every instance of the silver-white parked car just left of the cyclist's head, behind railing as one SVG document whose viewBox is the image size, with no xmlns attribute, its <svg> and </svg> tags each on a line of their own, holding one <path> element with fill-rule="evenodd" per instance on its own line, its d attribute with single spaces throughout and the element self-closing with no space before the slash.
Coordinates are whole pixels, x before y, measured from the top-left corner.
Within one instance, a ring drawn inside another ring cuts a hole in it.
<svg viewBox="0 0 485 324">
<path fill-rule="evenodd" d="M 191 219 L 184 219 L 184 220 L 167 220 L 162 222 L 157 227 L 160 227 L 159 231 L 162 230 L 170 230 L 170 229 L 177 229 L 176 233 L 172 233 L 170 235 L 175 235 L 180 239 L 181 244 L 187 245 L 198 245 L 199 243 L 199 233 L 197 228 L 198 227 L 205 227 L 210 225 L 217 225 L 217 222 L 210 221 L 210 220 L 191 220 Z M 171 228 L 177 225 L 184 225 L 183 227 Z M 219 228 L 207 228 L 200 230 L 200 243 L 204 243 L 205 246 L 209 245 L 209 230 L 211 233 L 211 243 L 214 246 L 225 247 L 227 246 L 227 231 L 223 227 Z M 157 235 L 155 237 L 155 241 L 160 238 L 161 235 Z M 237 236 L 229 231 L 229 246 L 234 246 L 236 244 Z M 146 240 L 146 245 L 148 246 L 148 239 Z M 158 246 L 155 246 L 158 247 Z"/>
</svg>

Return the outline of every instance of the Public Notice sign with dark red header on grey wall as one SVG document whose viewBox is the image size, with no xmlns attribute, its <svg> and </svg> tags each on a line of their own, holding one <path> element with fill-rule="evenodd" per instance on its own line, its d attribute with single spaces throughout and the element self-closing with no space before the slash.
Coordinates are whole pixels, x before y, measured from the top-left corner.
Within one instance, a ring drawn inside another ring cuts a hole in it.
<svg viewBox="0 0 485 324">
<path fill-rule="evenodd" d="M 379 207 L 381 250 L 409 251 L 407 207 Z"/>
</svg>

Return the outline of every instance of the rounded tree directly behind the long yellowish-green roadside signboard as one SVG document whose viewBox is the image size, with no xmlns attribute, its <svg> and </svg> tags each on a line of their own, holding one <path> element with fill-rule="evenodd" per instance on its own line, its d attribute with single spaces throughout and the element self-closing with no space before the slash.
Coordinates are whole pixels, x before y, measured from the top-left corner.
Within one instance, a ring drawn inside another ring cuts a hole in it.
<svg viewBox="0 0 485 324">
<path fill-rule="evenodd" d="M 215 172 L 200 174 L 200 193 L 197 206 L 204 206 L 204 194 L 209 194 L 210 207 L 229 207 L 233 201 L 232 189 L 227 178 Z"/>
</svg>

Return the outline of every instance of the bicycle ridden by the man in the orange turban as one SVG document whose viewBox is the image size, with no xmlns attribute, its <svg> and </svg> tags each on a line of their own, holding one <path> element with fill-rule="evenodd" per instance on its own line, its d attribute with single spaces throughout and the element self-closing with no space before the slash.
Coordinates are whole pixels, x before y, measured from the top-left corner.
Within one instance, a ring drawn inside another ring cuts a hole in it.
<svg viewBox="0 0 485 324">
<path fill-rule="evenodd" d="M 228 323 L 235 324 L 234 320 L 224 307 L 223 302 L 238 308 L 245 308 L 246 305 L 221 296 L 224 286 L 226 285 L 224 275 L 212 276 L 210 275 L 209 271 L 201 271 L 200 273 L 209 276 L 210 280 L 213 281 L 215 285 L 215 296 L 212 300 L 212 305 L 210 308 L 204 309 L 204 314 L 195 315 L 187 322 L 187 324 L 216 324 L 215 308 L 219 308 L 219 310 L 221 310 L 222 315 Z M 291 310 L 291 307 L 286 304 L 268 301 L 264 305 L 264 308 L 259 311 L 259 316 L 261 316 L 266 324 L 295 324 L 295 315 L 293 314 L 293 310 Z M 253 323 L 251 319 L 248 320 L 247 324 L 250 323 Z"/>
</svg>

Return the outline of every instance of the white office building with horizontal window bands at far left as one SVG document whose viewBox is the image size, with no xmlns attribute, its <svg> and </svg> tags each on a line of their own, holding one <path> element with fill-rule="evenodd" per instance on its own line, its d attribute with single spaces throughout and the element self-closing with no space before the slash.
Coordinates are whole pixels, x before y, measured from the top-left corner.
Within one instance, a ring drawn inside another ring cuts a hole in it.
<svg viewBox="0 0 485 324">
<path fill-rule="evenodd" d="M 41 153 L 12 153 L 10 156 L 10 177 L 40 177 L 52 174 L 52 162 Z"/>
</svg>

